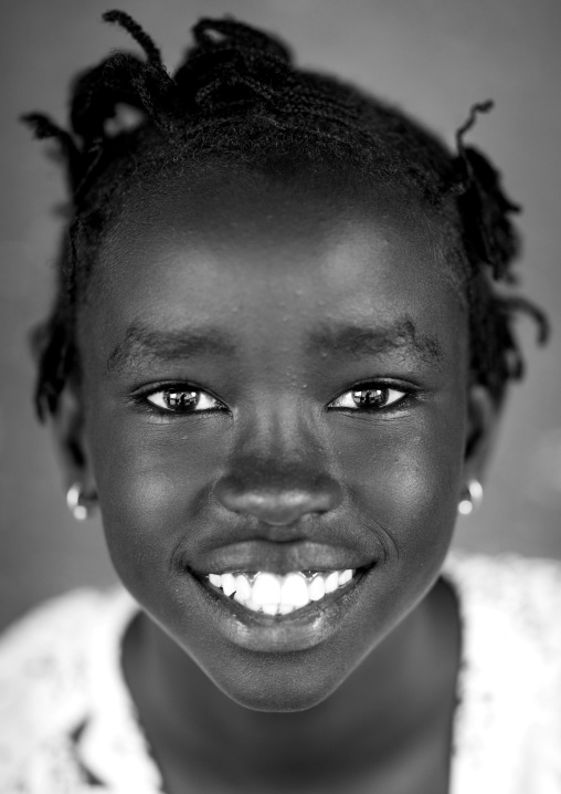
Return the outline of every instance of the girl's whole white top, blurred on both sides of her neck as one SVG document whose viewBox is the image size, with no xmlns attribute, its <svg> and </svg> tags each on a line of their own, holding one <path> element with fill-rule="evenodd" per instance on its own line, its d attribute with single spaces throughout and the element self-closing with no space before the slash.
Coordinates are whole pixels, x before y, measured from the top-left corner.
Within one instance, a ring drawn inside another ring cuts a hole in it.
<svg viewBox="0 0 561 794">
<path fill-rule="evenodd" d="M 561 563 L 454 553 L 462 614 L 451 794 L 561 794 Z M 120 641 L 138 606 L 77 591 L 0 640 L 1 794 L 157 794 Z"/>
</svg>

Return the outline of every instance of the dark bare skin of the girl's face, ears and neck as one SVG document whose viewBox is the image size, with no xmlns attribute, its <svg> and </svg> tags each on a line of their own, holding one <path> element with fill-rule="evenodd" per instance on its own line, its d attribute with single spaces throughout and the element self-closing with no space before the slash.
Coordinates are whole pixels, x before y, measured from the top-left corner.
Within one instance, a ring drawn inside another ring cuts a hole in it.
<svg viewBox="0 0 561 794">
<path fill-rule="evenodd" d="M 438 571 L 495 411 L 438 245 L 395 192 L 226 173 L 139 187 L 99 251 L 55 428 L 145 610 L 124 667 L 168 794 L 447 791 Z M 325 347 L 341 325 L 375 336 Z M 209 328 L 227 351 L 194 348 Z M 366 385 L 388 405 L 358 408 Z M 368 570 L 337 615 L 255 628 L 209 605 L 235 544 L 287 573 L 307 543 Z"/>
</svg>

